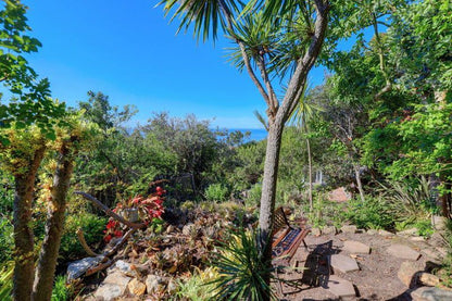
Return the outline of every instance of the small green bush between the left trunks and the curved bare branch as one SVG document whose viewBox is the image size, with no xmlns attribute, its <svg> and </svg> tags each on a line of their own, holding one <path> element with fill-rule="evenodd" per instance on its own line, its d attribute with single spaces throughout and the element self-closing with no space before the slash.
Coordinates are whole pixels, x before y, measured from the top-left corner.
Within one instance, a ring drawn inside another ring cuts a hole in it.
<svg viewBox="0 0 452 301">
<path fill-rule="evenodd" d="M 86 242 L 92 244 L 102 240 L 105 224 L 106 218 L 91 213 L 80 213 L 67 216 L 60 247 L 60 255 L 63 260 L 73 260 L 85 254 L 85 251 L 77 239 L 76 231 L 78 228 L 83 229 Z"/>
</svg>

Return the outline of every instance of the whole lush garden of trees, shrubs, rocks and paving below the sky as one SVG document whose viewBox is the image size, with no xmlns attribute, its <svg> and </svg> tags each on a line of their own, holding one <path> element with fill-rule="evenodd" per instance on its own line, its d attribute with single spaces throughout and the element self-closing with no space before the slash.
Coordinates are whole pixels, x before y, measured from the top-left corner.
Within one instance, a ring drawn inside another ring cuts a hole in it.
<svg viewBox="0 0 452 301">
<path fill-rule="evenodd" d="M 228 59 L 265 102 L 254 114 L 267 137 L 168 112 L 130 126 L 134 103 L 102 91 L 67 106 L 26 60 L 42 47 L 27 8 L 3 1 L 0 300 L 452 296 L 449 0 L 156 9 L 233 45 Z M 315 64 L 328 75 L 313 87 Z M 310 231 L 285 266 L 272 255 L 279 208 Z M 357 269 L 340 269 L 338 254 Z M 324 290 L 339 276 L 351 294 Z"/>
</svg>

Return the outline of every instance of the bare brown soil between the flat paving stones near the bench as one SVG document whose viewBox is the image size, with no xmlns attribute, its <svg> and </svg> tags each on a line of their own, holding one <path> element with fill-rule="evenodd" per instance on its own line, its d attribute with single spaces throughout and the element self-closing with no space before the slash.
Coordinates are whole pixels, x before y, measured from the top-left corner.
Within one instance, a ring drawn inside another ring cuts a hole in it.
<svg viewBox="0 0 452 301">
<path fill-rule="evenodd" d="M 356 258 L 356 262 L 360 266 L 360 271 L 349 272 L 347 274 L 340 272 L 334 272 L 332 268 L 328 268 L 328 262 L 331 254 L 341 253 L 349 255 L 347 251 L 341 250 L 343 241 L 355 240 L 363 242 L 372 248 L 369 254 L 360 254 Z M 297 251 L 291 263 L 293 266 L 309 266 L 310 254 L 312 255 L 314 250 L 318 250 L 323 247 L 324 259 L 327 262 L 324 263 L 317 273 L 317 286 L 310 287 L 304 285 L 312 281 L 310 277 L 303 276 L 302 273 L 298 273 L 294 269 L 286 269 L 281 274 L 281 278 L 286 280 L 296 280 L 296 284 L 304 283 L 301 288 L 296 288 L 292 285 L 284 285 L 284 297 L 281 300 L 339 300 L 335 294 L 326 289 L 326 283 L 329 275 L 332 273 L 340 278 L 351 281 L 355 288 L 355 298 L 347 300 L 412 300 L 407 296 L 409 288 L 398 278 L 398 272 L 401 263 L 404 260 L 391 256 L 386 252 L 386 249 L 391 243 L 407 244 L 414 250 L 422 253 L 423 249 L 430 248 L 425 241 L 413 241 L 410 238 L 403 238 L 400 236 L 380 236 L 362 234 L 341 233 L 339 235 L 323 235 L 319 237 L 309 236 L 305 239 L 309 249 L 303 247 Z M 322 251 L 321 251 L 322 253 Z M 306 261 L 307 260 L 307 261 Z M 429 262 L 429 259 L 425 253 L 417 260 L 418 263 L 425 264 Z M 312 264 L 311 264 L 312 265 Z"/>
</svg>

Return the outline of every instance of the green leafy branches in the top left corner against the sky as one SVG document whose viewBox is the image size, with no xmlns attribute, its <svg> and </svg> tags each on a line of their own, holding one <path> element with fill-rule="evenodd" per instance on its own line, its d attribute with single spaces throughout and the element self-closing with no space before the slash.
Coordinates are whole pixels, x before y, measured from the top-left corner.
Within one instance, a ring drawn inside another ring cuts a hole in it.
<svg viewBox="0 0 452 301">
<path fill-rule="evenodd" d="M 41 43 L 27 33 L 30 27 L 25 16 L 26 7 L 17 0 L 4 1 L 0 10 L 0 81 L 9 90 L 7 104 L 0 93 L 0 128 L 15 123 L 17 128 L 35 124 L 41 133 L 54 139 L 53 125 L 61 124 L 64 103 L 50 99 L 49 80 L 38 80 L 38 75 L 23 57 L 38 50 Z M 0 145 L 10 145 L 0 133 Z"/>
</svg>

